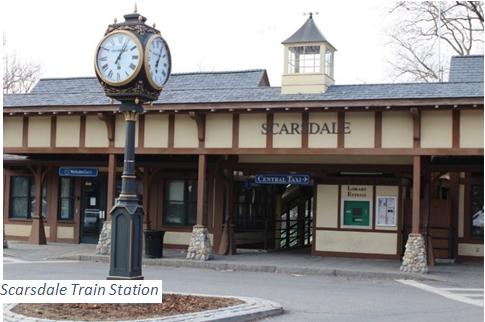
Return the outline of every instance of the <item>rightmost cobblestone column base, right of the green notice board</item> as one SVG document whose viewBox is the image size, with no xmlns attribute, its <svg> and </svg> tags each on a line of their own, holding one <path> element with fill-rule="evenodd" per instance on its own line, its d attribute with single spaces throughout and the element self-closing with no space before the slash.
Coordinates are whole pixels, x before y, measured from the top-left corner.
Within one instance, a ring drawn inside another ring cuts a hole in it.
<svg viewBox="0 0 485 322">
<path fill-rule="evenodd" d="M 401 272 L 427 273 L 426 244 L 423 235 L 409 234 L 406 251 L 401 264 Z"/>
</svg>

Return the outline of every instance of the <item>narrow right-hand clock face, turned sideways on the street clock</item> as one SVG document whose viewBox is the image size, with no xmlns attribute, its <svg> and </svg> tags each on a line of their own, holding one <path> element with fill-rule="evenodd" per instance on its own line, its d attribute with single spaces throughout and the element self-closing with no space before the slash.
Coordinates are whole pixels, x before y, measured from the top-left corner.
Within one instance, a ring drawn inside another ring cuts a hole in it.
<svg viewBox="0 0 485 322">
<path fill-rule="evenodd" d="M 145 51 L 145 69 L 150 84 L 161 89 L 170 76 L 170 51 L 167 43 L 159 35 L 148 39 Z"/>
</svg>

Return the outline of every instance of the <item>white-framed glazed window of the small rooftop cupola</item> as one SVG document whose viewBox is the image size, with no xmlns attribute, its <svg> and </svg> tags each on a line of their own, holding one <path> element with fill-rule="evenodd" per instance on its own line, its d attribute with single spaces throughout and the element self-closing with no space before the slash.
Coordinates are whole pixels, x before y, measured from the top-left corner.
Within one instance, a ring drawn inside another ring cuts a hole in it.
<svg viewBox="0 0 485 322">
<path fill-rule="evenodd" d="M 288 48 L 288 73 L 320 73 L 320 46 Z"/>
</svg>

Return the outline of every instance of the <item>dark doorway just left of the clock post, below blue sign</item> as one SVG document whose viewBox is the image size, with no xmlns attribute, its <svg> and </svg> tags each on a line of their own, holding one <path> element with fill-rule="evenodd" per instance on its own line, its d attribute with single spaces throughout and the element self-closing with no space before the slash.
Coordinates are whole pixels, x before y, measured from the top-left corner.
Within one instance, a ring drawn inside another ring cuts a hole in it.
<svg viewBox="0 0 485 322">
<path fill-rule="evenodd" d="M 106 218 L 106 176 L 81 180 L 81 243 L 98 242 Z"/>
</svg>

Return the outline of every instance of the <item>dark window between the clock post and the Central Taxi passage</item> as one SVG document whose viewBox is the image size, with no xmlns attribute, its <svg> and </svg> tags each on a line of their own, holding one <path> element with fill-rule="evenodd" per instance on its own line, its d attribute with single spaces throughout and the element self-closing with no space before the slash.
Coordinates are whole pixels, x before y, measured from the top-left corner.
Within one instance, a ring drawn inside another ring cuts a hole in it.
<svg viewBox="0 0 485 322">
<path fill-rule="evenodd" d="M 167 180 L 165 216 L 167 226 L 192 226 L 197 217 L 197 180 Z"/>
</svg>

